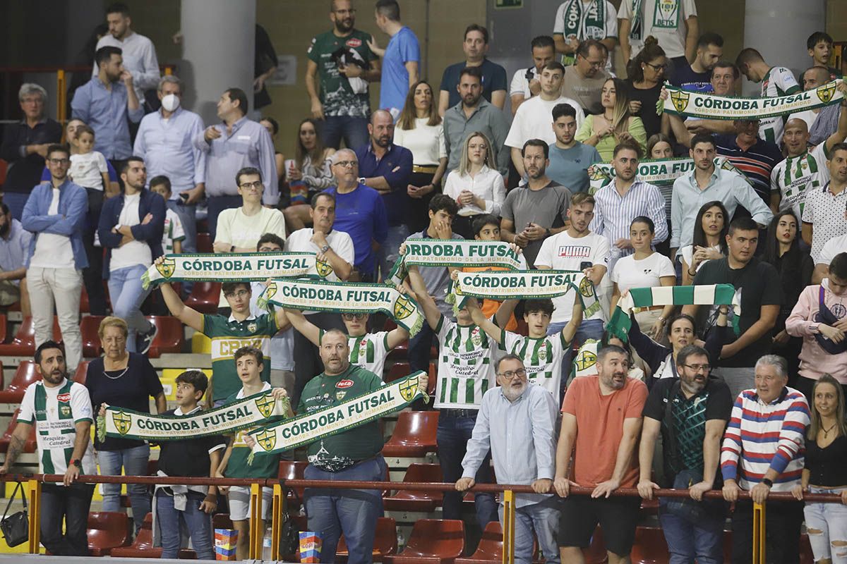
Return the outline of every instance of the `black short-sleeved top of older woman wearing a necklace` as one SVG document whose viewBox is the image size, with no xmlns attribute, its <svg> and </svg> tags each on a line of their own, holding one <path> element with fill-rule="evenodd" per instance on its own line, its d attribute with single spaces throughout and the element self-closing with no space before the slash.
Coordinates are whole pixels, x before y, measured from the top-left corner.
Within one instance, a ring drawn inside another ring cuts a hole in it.
<svg viewBox="0 0 847 564">
<path fill-rule="evenodd" d="M 88 364 L 86 388 L 94 413 L 100 410 L 101 403 L 150 413 L 150 398 L 164 392 L 156 370 L 146 356 L 138 353 L 130 353 L 126 370 L 110 370 L 108 373 L 103 370 L 102 357 L 92 360 Z M 94 439 L 94 448 L 98 451 L 121 451 L 143 444 L 144 441 L 115 437 L 106 437 L 100 442 L 96 435 Z"/>
</svg>

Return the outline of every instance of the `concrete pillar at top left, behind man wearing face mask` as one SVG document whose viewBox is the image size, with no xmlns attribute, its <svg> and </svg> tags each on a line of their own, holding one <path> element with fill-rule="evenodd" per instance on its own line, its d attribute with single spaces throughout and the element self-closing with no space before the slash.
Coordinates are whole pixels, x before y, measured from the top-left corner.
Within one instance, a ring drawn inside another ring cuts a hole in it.
<svg viewBox="0 0 847 564">
<path fill-rule="evenodd" d="M 216 105 L 224 90 L 241 88 L 252 103 L 256 2 L 182 0 L 180 19 L 183 105 L 209 125 L 219 121 Z"/>
</svg>

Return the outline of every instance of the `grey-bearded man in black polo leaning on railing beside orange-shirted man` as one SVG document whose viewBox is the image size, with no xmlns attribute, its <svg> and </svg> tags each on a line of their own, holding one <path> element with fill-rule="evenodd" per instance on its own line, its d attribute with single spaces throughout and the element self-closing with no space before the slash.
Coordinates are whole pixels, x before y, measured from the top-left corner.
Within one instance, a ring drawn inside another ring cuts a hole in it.
<svg viewBox="0 0 847 564">
<path fill-rule="evenodd" d="M 657 381 L 645 403 L 638 490 L 641 497 L 650 500 L 653 490 L 660 487 L 651 479 L 650 470 L 661 431 L 662 487 L 688 489 L 692 500 L 703 501 L 703 494 L 717 489 L 722 482 L 717 466 L 733 398 L 723 381 L 710 376 L 709 353 L 705 348 L 684 347 L 677 354 L 676 363 L 679 377 Z M 672 558 L 686 562 L 696 558 L 704 564 L 722 561 L 725 519 L 722 504 L 698 503 L 697 518 L 687 519 L 674 512 L 668 501 L 667 497 L 659 500 L 659 521 Z"/>
</svg>

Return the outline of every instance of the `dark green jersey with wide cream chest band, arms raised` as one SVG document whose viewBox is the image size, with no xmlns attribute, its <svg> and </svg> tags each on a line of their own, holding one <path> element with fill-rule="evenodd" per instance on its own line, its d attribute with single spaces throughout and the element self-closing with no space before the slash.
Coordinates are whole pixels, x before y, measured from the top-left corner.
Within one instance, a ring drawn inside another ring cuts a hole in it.
<svg viewBox="0 0 847 564">
<path fill-rule="evenodd" d="M 264 368 L 262 381 L 270 381 L 270 339 L 280 328 L 271 314 L 250 315 L 238 321 L 230 315 L 203 315 L 202 333 L 212 339 L 213 401 L 225 399 L 241 389 L 241 379 L 235 370 L 233 355 L 241 347 L 262 351 Z"/>
</svg>

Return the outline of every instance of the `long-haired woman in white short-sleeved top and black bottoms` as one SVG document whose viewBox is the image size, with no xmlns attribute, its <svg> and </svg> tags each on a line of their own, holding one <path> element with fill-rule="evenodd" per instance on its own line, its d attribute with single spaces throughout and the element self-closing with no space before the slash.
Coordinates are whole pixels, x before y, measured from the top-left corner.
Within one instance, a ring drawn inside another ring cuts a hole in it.
<svg viewBox="0 0 847 564">
<path fill-rule="evenodd" d="M 394 129 L 394 144 L 412 151 L 412 178 L 409 179 L 409 233 L 429 226 L 429 200 L 437 193 L 447 169 L 444 126 L 435 105 L 432 86 L 424 80 L 409 89 L 406 104 Z"/>
</svg>

